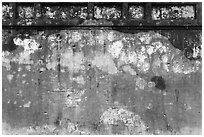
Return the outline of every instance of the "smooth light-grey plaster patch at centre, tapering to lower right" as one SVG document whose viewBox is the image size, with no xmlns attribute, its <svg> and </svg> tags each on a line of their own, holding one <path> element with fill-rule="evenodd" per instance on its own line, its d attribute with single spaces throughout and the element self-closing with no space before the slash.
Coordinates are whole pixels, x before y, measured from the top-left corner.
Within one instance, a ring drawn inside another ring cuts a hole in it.
<svg viewBox="0 0 204 137">
<path fill-rule="evenodd" d="M 115 63 L 109 54 L 97 53 L 92 60 L 92 64 L 99 67 L 102 71 L 110 74 L 118 72 Z"/>
</svg>

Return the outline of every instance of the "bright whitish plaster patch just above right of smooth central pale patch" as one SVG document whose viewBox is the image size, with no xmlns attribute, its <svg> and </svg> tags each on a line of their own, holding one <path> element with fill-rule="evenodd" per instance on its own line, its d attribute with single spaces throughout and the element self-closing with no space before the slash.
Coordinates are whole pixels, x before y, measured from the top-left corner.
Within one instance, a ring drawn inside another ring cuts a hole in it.
<svg viewBox="0 0 204 137">
<path fill-rule="evenodd" d="M 112 54 L 114 58 L 118 58 L 122 48 L 123 48 L 123 43 L 120 40 L 120 41 L 113 42 L 112 45 L 109 45 L 108 51 Z"/>
</svg>

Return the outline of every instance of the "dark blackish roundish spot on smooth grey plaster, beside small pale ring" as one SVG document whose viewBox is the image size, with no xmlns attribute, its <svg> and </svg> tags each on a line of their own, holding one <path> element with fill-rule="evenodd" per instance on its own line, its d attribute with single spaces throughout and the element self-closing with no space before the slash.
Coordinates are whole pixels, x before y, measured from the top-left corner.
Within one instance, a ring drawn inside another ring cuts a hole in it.
<svg viewBox="0 0 204 137">
<path fill-rule="evenodd" d="M 154 76 L 151 81 L 155 83 L 155 87 L 164 90 L 166 88 L 165 80 L 161 76 Z"/>
</svg>

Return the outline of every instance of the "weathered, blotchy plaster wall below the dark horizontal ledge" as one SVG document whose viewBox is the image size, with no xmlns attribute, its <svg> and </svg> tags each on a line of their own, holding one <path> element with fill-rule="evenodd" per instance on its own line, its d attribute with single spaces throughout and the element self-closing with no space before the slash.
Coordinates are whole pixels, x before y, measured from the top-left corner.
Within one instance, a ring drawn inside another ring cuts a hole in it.
<svg viewBox="0 0 204 137">
<path fill-rule="evenodd" d="M 201 133 L 200 30 L 2 34 L 5 134 Z"/>
</svg>

